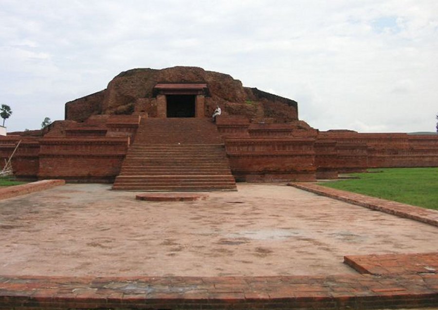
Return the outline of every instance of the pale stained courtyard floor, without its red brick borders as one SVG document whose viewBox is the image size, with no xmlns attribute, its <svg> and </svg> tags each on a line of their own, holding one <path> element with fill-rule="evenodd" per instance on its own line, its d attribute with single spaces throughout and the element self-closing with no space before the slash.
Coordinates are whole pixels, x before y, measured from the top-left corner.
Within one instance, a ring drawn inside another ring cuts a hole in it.
<svg viewBox="0 0 438 310">
<path fill-rule="evenodd" d="M 0 201 L 0 274 L 357 274 L 344 255 L 438 250 L 438 227 L 284 184 L 194 202 L 137 193 L 67 184 Z"/>
</svg>

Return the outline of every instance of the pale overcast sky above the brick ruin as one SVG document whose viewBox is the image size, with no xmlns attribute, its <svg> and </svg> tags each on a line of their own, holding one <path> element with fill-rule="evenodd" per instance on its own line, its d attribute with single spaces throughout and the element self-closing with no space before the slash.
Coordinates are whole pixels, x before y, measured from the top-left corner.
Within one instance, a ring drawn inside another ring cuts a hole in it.
<svg viewBox="0 0 438 310">
<path fill-rule="evenodd" d="M 8 131 L 176 65 L 294 99 L 320 130 L 434 131 L 437 55 L 437 0 L 0 0 Z"/>
</svg>

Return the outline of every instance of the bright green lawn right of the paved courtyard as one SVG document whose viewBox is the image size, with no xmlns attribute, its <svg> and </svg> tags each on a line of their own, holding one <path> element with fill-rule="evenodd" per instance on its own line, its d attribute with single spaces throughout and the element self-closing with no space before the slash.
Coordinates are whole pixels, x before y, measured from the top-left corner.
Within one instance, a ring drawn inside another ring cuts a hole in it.
<svg viewBox="0 0 438 310">
<path fill-rule="evenodd" d="M 438 168 L 386 168 L 321 185 L 438 210 Z"/>
</svg>

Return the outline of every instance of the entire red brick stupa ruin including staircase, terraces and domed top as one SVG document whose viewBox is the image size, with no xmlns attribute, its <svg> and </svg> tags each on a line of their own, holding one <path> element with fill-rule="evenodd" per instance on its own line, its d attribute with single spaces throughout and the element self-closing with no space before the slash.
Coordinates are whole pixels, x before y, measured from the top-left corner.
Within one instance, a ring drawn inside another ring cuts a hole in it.
<svg viewBox="0 0 438 310">
<path fill-rule="evenodd" d="M 107 89 L 66 103 L 65 120 L 0 137 L 0 162 L 18 142 L 18 178 L 125 190 L 234 190 L 236 180 L 438 166 L 437 135 L 319 131 L 298 119 L 295 101 L 196 67 L 122 72 Z"/>
</svg>

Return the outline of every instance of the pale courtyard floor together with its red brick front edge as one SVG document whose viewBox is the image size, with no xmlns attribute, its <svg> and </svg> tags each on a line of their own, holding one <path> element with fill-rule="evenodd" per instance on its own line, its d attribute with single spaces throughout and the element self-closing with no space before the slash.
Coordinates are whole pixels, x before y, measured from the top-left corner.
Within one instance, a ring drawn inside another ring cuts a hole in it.
<svg viewBox="0 0 438 310">
<path fill-rule="evenodd" d="M 3 200 L 0 309 L 438 305 L 432 270 L 360 274 L 343 263 L 436 262 L 438 227 L 285 184 L 238 190 L 169 203 L 67 184 Z"/>
</svg>

